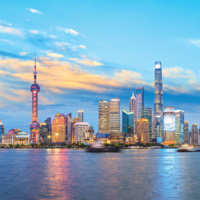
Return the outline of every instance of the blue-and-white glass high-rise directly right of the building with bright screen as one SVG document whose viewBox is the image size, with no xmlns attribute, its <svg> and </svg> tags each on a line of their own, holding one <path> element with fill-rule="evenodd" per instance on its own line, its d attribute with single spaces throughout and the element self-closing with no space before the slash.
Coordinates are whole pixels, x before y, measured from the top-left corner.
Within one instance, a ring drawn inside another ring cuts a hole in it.
<svg viewBox="0 0 200 200">
<path fill-rule="evenodd" d="M 176 117 L 176 132 L 175 132 L 175 143 L 184 143 L 184 111 L 175 110 Z"/>
</svg>

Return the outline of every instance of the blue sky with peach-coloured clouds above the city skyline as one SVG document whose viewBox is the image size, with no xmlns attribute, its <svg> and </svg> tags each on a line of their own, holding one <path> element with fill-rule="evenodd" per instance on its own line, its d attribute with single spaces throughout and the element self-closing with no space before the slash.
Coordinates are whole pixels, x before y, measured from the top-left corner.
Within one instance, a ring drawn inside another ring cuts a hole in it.
<svg viewBox="0 0 200 200">
<path fill-rule="evenodd" d="M 154 101 L 154 63 L 162 62 L 164 106 L 199 123 L 200 2 L 4 1 L 0 3 L 0 118 L 6 132 L 29 132 L 37 50 L 39 121 L 79 109 L 98 130 L 98 101 L 128 109 L 138 86 Z"/>
</svg>

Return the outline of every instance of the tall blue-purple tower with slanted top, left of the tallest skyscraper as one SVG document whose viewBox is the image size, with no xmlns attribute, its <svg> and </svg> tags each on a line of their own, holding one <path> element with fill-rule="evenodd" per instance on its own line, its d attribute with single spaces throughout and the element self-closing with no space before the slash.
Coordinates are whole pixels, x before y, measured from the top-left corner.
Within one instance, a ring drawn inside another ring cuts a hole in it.
<svg viewBox="0 0 200 200">
<path fill-rule="evenodd" d="M 136 88 L 136 101 L 137 101 L 137 120 L 141 119 L 141 111 L 144 108 L 144 87 Z"/>
</svg>

